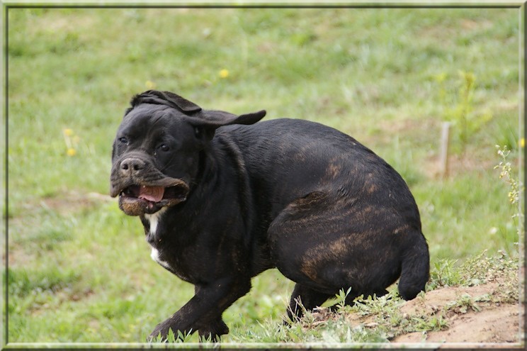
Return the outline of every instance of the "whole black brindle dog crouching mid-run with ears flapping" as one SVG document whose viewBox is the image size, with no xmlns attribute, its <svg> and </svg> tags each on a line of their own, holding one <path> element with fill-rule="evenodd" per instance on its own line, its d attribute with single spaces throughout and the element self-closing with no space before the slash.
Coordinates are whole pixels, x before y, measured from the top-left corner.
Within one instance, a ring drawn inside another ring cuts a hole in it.
<svg viewBox="0 0 527 351">
<path fill-rule="evenodd" d="M 380 296 L 399 280 L 414 299 L 429 279 L 429 252 L 407 184 L 357 140 L 318 123 L 265 111 L 203 110 L 168 91 L 132 99 L 113 143 L 111 196 L 140 216 L 152 258 L 196 295 L 169 329 L 213 340 L 222 313 L 277 267 L 296 282 L 288 316 L 351 292 Z M 256 124 L 255 124 L 256 123 Z"/>
</svg>

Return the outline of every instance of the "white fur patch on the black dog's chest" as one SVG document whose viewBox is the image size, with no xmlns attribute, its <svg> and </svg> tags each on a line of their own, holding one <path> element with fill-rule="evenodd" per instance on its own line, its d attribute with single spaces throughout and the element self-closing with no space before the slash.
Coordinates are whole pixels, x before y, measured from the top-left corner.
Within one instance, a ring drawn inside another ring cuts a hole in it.
<svg viewBox="0 0 527 351">
<path fill-rule="evenodd" d="M 161 221 L 165 211 L 166 208 L 162 208 L 160 211 L 151 215 L 145 214 L 145 221 L 148 223 L 148 227 L 145 227 L 147 229 L 147 241 L 152 249 L 150 257 L 162 267 L 169 270 L 169 272 L 176 274 L 183 280 L 189 281 L 189 277 L 179 269 L 179 264 L 176 260 L 177 257 L 174 257 L 174 252 L 166 252 L 166 243 L 162 241 L 162 236 L 159 235 L 159 231 L 162 230 Z"/>
</svg>

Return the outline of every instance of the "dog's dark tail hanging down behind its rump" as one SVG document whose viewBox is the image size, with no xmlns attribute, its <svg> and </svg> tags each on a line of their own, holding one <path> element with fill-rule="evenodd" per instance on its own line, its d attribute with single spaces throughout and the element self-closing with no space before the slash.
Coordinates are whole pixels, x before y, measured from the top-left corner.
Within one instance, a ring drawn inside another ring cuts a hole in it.
<svg viewBox="0 0 527 351">
<path fill-rule="evenodd" d="M 404 300 L 412 300 L 424 291 L 430 274 L 430 256 L 428 244 L 422 233 L 416 235 L 413 247 L 407 251 L 402 260 L 399 295 Z"/>
</svg>

